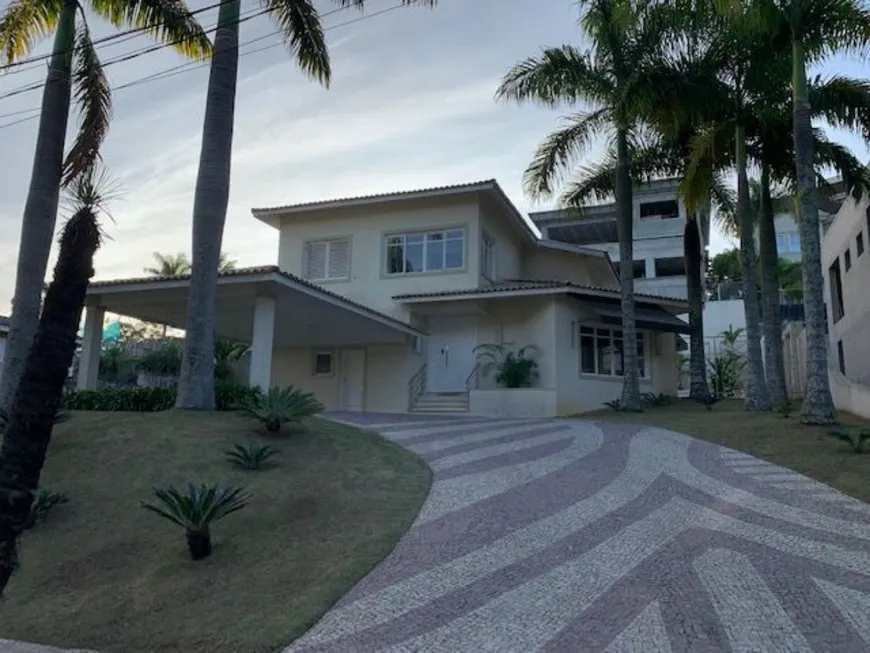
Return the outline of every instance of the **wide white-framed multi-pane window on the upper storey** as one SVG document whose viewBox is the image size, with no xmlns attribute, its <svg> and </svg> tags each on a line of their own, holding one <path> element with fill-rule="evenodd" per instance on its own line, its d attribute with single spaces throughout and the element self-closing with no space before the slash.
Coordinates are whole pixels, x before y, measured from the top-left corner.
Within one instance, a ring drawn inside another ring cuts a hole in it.
<svg viewBox="0 0 870 653">
<path fill-rule="evenodd" d="M 387 274 L 461 270 L 465 267 L 465 230 L 392 234 L 386 239 Z"/>
</svg>

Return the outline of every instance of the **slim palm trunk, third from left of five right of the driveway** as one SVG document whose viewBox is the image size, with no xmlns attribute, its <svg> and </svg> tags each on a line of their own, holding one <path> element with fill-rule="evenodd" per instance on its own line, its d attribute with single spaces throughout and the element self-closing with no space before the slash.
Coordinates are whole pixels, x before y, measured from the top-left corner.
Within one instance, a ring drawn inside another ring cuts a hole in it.
<svg viewBox="0 0 870 653">
<path fill-rule="evenodd" d="M 761 355 L 761 306 L 758 301 L 758 268 L 755 254 L 755 225 L 749 205 L 749 181 L 746 177 L 746 128 L 734 130 L 737 163 L 737 221 L 740 227 L 740 263 L 743 272 L 743 311 L 746 315 L 746 408 L 770 410 L 770 396 L 764 381 L 764 360 Z"/>
</svg>

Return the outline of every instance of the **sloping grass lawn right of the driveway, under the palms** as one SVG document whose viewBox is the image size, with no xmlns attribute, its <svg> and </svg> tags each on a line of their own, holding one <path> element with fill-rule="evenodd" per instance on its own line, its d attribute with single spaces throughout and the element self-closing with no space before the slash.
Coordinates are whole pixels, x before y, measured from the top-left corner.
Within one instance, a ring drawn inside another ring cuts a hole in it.
<svg viewBox="0 0 870 653">
<path fill-rule="evenodd" d="M 805 426 L 797 415 L 749 413 L 742 401 L 723 401 L 708 411 L 693 401 L 647 407 L 643 413 L 600 410 L 582 417 L 649 424 L 693 435 L 789 467 L 870 502 L 870 453 L 853 454 L 843 442 L 827 435 L 828 427 Z M 843 424 L 862 420 L 840 413 Z"/>
</svg>

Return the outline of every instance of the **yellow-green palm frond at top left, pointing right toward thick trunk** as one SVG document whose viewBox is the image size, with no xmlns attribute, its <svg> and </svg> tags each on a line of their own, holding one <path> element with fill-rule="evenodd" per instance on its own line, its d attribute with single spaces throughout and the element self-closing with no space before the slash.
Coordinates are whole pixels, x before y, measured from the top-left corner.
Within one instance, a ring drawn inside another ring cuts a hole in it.
<svg viewBox="0 0 870 653">
<path fill-rule="evenodd" d="M 91 6 L 115 27 L 142 28 L 186 57 L 211 56 L 211 41 L 183 0 L 91 0 Z"/>
</svg>

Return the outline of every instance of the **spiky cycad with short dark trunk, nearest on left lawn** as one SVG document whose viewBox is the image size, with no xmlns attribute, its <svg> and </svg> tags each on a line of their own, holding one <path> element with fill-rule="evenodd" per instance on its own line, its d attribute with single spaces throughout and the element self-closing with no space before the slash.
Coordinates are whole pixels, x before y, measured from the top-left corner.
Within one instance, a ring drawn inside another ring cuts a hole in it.
<svg viewBox="0 0 870 653">
<path fill-rule="evenodd" d="M 211 555 L 211 531 L 209 527 L 219 519 L 241 510 L 250 500 L 243 488 L 220 488 L 205 484 L 199 487 L 192 483 L 187 493 L 169 486 L 154 488 L 155 503 L 142 502 L 146 510 L 181 526 L 187 537 L 187 550 L 194 560 Z"/>
</svg>

